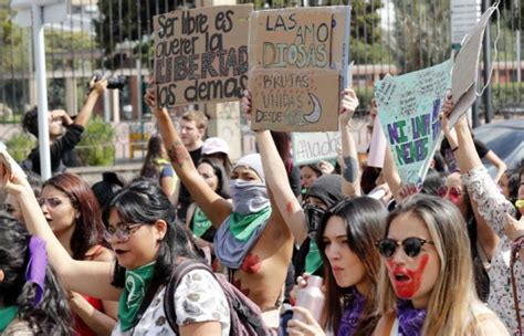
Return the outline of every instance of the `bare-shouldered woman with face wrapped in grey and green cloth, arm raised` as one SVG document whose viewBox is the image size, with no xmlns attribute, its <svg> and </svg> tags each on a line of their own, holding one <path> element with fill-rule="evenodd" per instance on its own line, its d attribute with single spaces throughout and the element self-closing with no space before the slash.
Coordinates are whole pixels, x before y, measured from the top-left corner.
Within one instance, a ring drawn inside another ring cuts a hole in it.
<svg viewBox="0 0 524 336">
<path fill-rule="evenodd" d="M 158 120 L 175 171 L 217 229 L 216 254 L 230 270 L 230 281 L 259 305 L 268 326 L 277 327 L 293 237 L 279 211 L 272 211 L 275 206 L 265 188 L 260 155 L 244 156 L 233 167 L 231 203 L 199 175 L 167 109 L 156 107 L 151 91 L 145 101 Z"/>
</svg>

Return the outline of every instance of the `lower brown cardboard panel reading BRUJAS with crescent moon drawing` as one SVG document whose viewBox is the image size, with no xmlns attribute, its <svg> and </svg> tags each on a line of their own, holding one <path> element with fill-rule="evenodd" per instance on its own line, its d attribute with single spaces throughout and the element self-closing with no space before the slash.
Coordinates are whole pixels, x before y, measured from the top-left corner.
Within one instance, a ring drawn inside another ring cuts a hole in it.
<svg viewBox="0 0 524 336">
<path fill-rule="evenodd" d="M 251 73 L 252 129 L 337 129 L 339 72 L 256 70 Z"/>
</svg>

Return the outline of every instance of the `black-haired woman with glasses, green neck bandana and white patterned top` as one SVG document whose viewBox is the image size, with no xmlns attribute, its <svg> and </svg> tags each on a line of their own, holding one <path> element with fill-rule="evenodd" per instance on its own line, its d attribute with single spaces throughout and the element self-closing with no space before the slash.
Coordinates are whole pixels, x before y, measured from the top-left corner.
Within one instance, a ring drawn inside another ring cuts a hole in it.
<svg viewBox="0 0 524 336">
<path fill-rule="evenodd" d="M 1 169 L 0 169 L 1 176 Z M 70 291 L 118 301 L 112 335 L 221 335 L 230 332 L 228 301 L 206 270 L 185 274 L 174 293 L 178 330 L 164 311 L 166 284 L 184 259 L 200 260 L 188 231 L 176 223 L 176 210 L 158 185 L 136 181 L 119 190 L 104 208 L 105 240 L 115 262 L 78 261 L 60 244 L 21 177 L 3 177 L 17 197 L 28 229 L 48 242 L 52 265 Z"/>
</svg>

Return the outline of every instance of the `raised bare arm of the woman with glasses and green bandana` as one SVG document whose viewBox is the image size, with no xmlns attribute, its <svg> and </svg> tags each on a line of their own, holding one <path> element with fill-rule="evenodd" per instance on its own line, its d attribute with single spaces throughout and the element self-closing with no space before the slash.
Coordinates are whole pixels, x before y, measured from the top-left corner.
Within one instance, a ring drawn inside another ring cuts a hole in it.
<svg viewBox="0 0 524 336">
<path fill-rule="evenodd" d="M 46 242 L 49 262 L 65 288 L 103 300 L 117 301 L 120 290 L 111 285 L 114 263 L 73 260 L 49 227 L 28 181 L 20 176 L 9 176 L 3 166 L 0 168 L 0 177 L 2 186 L 20 203 L 28 230 Z"/>
</svg>

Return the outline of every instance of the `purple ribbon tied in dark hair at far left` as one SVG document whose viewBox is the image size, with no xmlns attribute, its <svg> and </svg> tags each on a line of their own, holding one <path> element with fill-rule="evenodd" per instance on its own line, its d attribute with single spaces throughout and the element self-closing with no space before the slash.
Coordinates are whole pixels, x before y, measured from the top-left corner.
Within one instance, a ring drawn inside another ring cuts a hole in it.
<svg viewBox="0 0 524 336">
<path fill-rule="evenodd" d="M 38 286 L 34 297 L 35 305 L 42 300 L 46 266 L 48 252 L 45 250 L 45 241 L 38 237 L 31 237 L 29 240 L 29 263 L 25 270 L 25 280 Z"/>
</svg>

